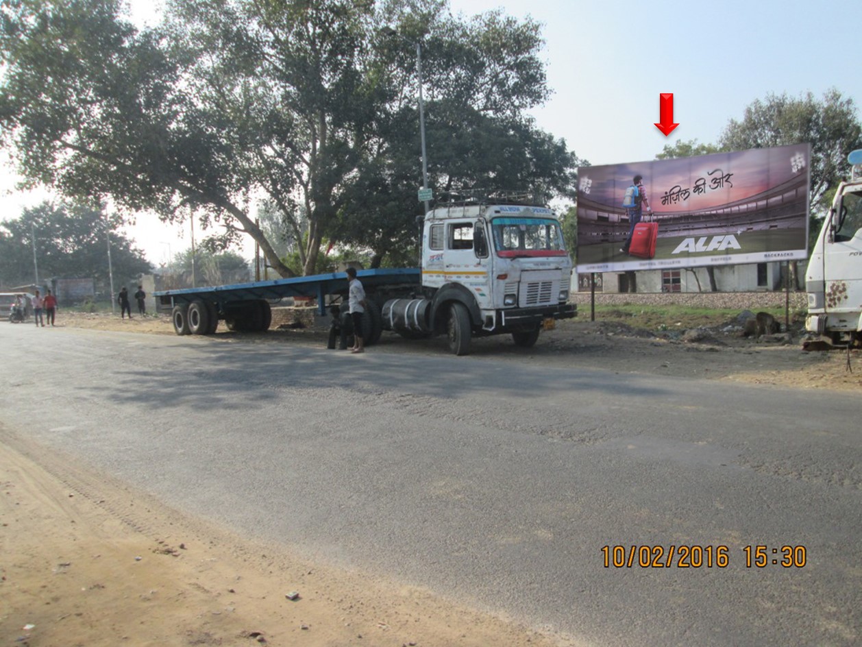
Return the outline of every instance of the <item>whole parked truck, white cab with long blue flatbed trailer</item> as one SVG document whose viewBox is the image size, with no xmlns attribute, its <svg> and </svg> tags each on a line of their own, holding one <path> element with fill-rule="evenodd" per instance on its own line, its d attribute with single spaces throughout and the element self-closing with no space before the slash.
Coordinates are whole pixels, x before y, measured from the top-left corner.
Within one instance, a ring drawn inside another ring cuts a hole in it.
<svg viewBox="0 0 862 647">
<path fill-rule="evenodd" d="M 359 270 L 367 307 L 365 344 L 384 330 L 407 338 L 446 335 L 455 355 L 473 337 L 512 336 L 529 348 L 542 330 L 575 317 L 572 259 L 559 218 L 545 204 L 514 198 L 454 200 L 422 221 L 420 267 Z M 238 332 L 268 330 L 271 304 L 316 298 L 319 312 L 347 302 L 344 273 L 155 292 L 178 335 L 213 334 L 219 321 Z"/>
</svg>

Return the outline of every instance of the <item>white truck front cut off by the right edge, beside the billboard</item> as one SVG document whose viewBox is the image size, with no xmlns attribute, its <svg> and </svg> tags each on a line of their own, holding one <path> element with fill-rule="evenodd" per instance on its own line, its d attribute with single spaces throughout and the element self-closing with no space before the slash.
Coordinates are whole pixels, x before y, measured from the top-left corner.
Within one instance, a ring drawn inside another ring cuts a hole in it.
<svg viewBox="0 0 862 647">
<path fill-rule="evenodd" d="M 862 150 L 841 182 L 811 251 L 805 328 L 832 346 L 862 344 Z"/>
</svg>

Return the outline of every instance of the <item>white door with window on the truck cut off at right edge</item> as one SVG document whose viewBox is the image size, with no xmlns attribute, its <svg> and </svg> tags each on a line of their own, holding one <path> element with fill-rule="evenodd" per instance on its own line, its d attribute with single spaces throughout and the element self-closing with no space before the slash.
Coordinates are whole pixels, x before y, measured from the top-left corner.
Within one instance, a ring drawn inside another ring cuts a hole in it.
<svg viewBox="0 0 862 647">
<path fill-rule="evenodd" d="M 824 245 L 826 311 L 858 312 L 862 306 L 862 187 L 841 196 Z"/>
</svg>

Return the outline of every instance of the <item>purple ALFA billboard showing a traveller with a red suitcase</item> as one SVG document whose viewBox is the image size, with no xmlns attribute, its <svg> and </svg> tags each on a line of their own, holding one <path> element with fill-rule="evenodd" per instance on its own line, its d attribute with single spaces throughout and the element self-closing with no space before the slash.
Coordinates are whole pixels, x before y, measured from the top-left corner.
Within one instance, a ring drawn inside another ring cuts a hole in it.
<svg viewBox="0 0 862 647">
<path fill-rule="evenodd" d="M 578 168 L 577 271 L 808 258 L 810 167 L 806 143 Z M 622 206 L 636 175 L 641 224 Z"/>
</svg>

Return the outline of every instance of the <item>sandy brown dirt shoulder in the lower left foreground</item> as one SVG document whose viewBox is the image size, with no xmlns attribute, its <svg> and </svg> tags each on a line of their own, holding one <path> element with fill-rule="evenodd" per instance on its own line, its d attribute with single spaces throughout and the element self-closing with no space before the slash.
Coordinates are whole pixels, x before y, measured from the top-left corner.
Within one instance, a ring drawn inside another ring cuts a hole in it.
<svg viewBox="0 0 862 647">
<path fill-rule="evenodd" d="M 4 644 L 558 644 L 250 543 L 2 427 L 0 537 Z"/>
</svg>

